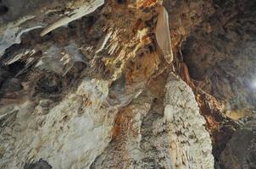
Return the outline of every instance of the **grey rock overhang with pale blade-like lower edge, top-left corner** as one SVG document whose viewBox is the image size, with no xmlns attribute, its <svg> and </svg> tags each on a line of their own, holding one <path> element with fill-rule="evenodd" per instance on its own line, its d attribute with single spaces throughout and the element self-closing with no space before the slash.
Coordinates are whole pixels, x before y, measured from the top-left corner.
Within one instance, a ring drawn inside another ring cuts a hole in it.
<svg viewBox="0 0 256 169">
<path fill-rule="evenodd" d="M 41 35 L 45 35 L 59 26 L 67 25 L 72 20 L 80 19 L 82 16 L 92 13 L 103 5 L 103 1 L 97 0 L 25 0 L 19 2 L 3 0 L 2 3 L 4 7 L 8 8 L 8 12 L 3 14 L 0 19 L 0 56 L 8 47 L 20 43 L 20 36 L 26 32 L 49 25 L 42 30 Z M 59 12 L 62 13 L 63 8 L 67 9 L 64 13 L 67 16 L 58 15 Z M 29 11 L 29 13 L 25 11 Z"/>
</svg>

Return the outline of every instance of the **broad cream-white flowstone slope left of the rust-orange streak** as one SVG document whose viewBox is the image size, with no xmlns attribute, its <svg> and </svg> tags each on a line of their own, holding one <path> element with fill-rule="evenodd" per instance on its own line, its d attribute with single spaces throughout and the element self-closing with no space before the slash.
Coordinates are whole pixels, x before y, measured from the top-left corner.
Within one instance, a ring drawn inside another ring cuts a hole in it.
<svg viewBox="0 0 256 169">
<path fill-rule="evenodd" d="M 21 168 L 25 161 L 41 158 L 53 168 L 88 167 L 111 138 L 115 110 L 101 108 L 107 86 L 84 79 L 74 94 L 52 108 L 46 100 L 15 105 L 8 112 L 16 113 L 14 122 L 1 128 L 1 168 Z"/>
</svg>

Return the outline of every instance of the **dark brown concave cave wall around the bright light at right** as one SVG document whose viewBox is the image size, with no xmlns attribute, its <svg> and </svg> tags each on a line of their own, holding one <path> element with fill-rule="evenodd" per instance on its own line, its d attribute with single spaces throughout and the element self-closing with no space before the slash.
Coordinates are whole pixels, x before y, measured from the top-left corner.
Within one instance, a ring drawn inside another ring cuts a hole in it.
<svg viewBox="0 0 256 169">
<path fill-rule="evenodd" d="M 237 119 L 252 114 L 256 105 L 256 3 L 215 1 L 215 8 L 184 43 L 184 60 L 200 88 Z"/>
</svg>

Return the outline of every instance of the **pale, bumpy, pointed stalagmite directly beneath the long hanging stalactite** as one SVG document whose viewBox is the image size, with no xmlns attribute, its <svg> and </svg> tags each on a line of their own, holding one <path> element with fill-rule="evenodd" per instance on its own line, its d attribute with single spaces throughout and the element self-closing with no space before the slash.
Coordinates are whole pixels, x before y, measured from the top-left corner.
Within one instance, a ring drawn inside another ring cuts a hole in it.
<svg viewBox="0 0 256 169">
<path fill-rule="evenodd" d="M 213 168 L 211 140 L 191 88 L 173 74 L 166 88 L 164 120 L 173 168 Z"/>
</svg>

